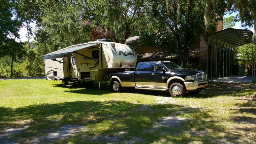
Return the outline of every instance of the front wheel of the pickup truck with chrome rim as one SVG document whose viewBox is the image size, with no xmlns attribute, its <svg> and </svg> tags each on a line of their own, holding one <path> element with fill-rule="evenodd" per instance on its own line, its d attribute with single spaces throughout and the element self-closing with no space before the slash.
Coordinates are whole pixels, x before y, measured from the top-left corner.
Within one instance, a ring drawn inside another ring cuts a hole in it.
<svg viewBox="0 0 256 144">
<path fill-rule="evenodd" d="M 170 85 L 169 92 L 172 97 L 183 97 L 185 95 L 184 86 L 178 82 L 172 83 Z"/>
</svg>

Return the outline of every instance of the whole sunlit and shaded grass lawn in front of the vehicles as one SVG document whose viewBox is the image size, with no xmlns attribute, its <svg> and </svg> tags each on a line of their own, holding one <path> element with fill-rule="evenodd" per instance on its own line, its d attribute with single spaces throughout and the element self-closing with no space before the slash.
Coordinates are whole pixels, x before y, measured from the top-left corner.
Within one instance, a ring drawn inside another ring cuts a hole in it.
<svg viewBox="0 0 256 144">
<path fill-rule="evenodd" d="M 256 143 L 255 84 L 210 83 L 197 95 L 109 85 L 0 81 L 0 143 Z"/>
</svg>

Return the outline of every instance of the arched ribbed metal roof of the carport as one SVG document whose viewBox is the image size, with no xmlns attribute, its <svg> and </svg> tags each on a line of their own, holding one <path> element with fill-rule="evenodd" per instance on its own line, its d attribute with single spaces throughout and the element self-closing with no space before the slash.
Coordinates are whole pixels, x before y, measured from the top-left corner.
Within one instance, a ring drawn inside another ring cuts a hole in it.
<svg viewBox="0 0 256 144">
<path fill-rule="evenodd" d="M 228 28 L 228 29 L 210 34 L 207 37 L 207 43 L 234 48 L 247 43 L 255 44 L 256 36 L 250 30 Z"/>
</svg>

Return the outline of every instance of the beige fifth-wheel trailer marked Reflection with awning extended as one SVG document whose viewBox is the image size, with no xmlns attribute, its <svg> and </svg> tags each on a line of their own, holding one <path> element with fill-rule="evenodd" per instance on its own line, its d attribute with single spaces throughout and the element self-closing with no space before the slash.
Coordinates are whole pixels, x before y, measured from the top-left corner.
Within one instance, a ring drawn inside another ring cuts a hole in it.
<svg viewBox="0 0 256 144">
<path fill-rule="evenodd" d="M 99 39 L 72 45 L 43 56 L 46 80 L 62 80 L 63 86 L 80 81 L 107 81 L 109 72 L 133 69 L 137 57 L 126 44 Z"/>
</svg>

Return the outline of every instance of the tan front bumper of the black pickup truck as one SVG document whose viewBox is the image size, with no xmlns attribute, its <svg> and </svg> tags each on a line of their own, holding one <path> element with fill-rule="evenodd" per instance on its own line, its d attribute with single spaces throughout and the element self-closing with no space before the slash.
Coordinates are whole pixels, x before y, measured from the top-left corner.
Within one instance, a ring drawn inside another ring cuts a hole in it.
<svg viewBox="0 0 256 144">
<path fill-rule="evenodd" d="M 188 92 L 201 91 L 203 88 L 207 87 L 208 82 L 184 82 Z"/>
</svg>

